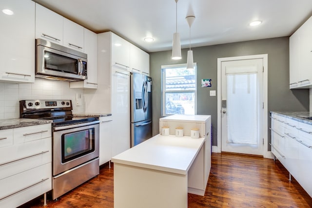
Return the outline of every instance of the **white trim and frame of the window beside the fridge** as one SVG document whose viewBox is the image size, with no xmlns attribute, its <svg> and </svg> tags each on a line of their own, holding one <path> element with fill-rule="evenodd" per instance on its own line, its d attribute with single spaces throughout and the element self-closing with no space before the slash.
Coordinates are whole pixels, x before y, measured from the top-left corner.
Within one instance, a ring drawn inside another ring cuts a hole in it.
<svg viewBox="0 0 312 208">
<path fill-rule="evenodd" d="M 169 116 L 166 114 L 166 111 L 165 111 L 165 105 L 166 105 L 166 102 L 165 102 L 165 93 L 179 93 L 181 91 L 164 91 L 164 89 L 166 89 L 166 86 L 165 86 L 165 83 L 163 82 L 164 80 L 164 73 L 163 73 L 163 69 L 166 69 L 166 68 L 178 68 L 178 67 L 186 67 L 187 64 L 186 63 L 183 63 L 183 64 L 170 64 L 170 65 L 161 65 L 161 101 L 162 101 L 162 104 L 161 104 L 161 116 Z M 194 113 L 195 115 L 197 114 L 197 63 L 193 63 L 193 66 L 196 66 L 196 70 L 195 70 L 195 102 L 194 102 Z M 183 91 L 185 93 L 193 93 L 194 91 L 192 90 L 185 90 Z"/>
</svg>

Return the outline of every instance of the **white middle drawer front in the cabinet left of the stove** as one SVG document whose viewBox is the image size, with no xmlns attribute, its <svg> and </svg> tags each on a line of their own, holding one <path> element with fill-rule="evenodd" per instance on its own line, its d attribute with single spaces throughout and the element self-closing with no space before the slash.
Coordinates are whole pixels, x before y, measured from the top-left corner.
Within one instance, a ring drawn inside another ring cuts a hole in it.
<svg viewBox="0 0 312 208">
<path fill-rule="evenodd" d="M 0 164 L 5 164 L 25 157 L 29 157 L 42 151 L 51 152 L 51 142 L 52 138 L 48 137 L 32 142 L 25 142 L 18 145 L 3 147 L 0 149 Z"/>
</svg>

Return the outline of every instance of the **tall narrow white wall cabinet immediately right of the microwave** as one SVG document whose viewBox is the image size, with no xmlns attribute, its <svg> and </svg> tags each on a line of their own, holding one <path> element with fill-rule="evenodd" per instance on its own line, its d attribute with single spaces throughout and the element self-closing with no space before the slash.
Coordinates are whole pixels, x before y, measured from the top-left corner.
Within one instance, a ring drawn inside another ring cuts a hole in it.
<svg viewBox="0 0 312 208">
<path fill-rule="evenodd" d="M 87 79 L 71 82 L 70 88 L 98 88 L 97 34 L 84 28 L 84 53 L 88 55 Z"/>
</svg>

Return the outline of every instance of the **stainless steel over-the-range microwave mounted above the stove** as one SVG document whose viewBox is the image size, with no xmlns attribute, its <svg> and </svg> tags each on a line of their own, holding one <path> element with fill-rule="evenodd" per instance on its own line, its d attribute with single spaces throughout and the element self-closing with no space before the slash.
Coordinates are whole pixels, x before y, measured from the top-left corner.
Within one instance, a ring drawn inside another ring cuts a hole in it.
<svg viewBox="0 0 312 208">
<path fill-rule="evenodd" d="M 87 79 L 87 54 L 36 39 L 36 77 L 60 81 Z"/>
</svg>

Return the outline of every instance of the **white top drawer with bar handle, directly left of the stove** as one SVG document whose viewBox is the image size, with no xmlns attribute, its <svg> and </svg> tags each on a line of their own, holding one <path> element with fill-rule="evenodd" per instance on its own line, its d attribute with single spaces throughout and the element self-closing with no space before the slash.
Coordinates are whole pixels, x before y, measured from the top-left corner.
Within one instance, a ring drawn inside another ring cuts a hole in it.
<svg viewBox="0 0 312 208">
<path fill-rule="evenodd" d="M 13 130 L 14 144 L 29 142 L 52 136 L 51 124 L 27 126 Z"/>
</svg>

